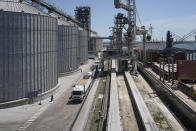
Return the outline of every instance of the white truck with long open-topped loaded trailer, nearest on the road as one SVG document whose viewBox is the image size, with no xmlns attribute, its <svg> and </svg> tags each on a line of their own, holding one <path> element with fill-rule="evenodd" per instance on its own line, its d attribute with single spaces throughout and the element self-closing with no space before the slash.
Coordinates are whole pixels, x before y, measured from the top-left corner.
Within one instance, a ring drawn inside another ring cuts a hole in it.
<svg viewBox="0 0 196 131">
<path fill-rule="evenodd" d="M 70 99 L 73 101 L 82 101 L 88 92 L 90 84 L 93 80 L 94 72 L 87 72 L 83 79 L 73 86 Z"/>
</svg>

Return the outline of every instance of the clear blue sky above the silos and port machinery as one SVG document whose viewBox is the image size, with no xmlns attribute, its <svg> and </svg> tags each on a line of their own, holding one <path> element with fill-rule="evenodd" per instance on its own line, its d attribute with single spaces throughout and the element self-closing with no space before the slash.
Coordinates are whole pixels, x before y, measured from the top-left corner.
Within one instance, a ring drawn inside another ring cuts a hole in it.
<svg viewBox="0 0 196 131">
<path fill-rule="evenodd" d="M 114 15 L 118 12 L 127 14 L 122 9 L 115 9 L 113 0 L 45 1 L 72 16 L 76 6 L 91 6 L 91 27 L 100 36 L 110 35 L 109 27 L 113 26 Z M 183 36 L 196 28 L 196 0 L 136 0 L 136 6 L 142 24 L 147 28 L 153 25 L 154 39 L 165 38 L 167 30 Z"/>
</svg>

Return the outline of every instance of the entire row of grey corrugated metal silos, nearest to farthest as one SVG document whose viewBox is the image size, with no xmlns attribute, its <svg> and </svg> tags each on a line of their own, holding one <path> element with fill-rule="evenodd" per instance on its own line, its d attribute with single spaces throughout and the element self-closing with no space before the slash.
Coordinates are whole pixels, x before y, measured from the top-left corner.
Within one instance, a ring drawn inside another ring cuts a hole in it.
<svg viewBox="0 0 196 131">
<path fill-rule="evenodd" d="M 57 13 L 1 0 L 0 19 L 0 102 L 49 91 L 88 60 L 88 30 Z"/>
</svg>

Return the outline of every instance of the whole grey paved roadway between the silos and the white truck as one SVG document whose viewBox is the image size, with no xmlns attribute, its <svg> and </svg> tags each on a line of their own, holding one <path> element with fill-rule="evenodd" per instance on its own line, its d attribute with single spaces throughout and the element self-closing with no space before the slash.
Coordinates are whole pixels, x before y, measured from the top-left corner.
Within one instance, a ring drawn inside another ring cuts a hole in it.
<svg viewBox="0 0 196 131">
<path fill-rule="evenodd" d="M 34 103 L 0 110 L 0 131 L 61 131 L 68 130 L 75 118 L 80 104 L 71 104 L 68 98 L 71 86 L 90 68 L 90 63 L 83 65 L 80 71 L 60 77 L 61 87 L 51 103 L 43 100 L 42 105 Z M 2 119 L 3 118 L 3 119 Z"/>
</svg>

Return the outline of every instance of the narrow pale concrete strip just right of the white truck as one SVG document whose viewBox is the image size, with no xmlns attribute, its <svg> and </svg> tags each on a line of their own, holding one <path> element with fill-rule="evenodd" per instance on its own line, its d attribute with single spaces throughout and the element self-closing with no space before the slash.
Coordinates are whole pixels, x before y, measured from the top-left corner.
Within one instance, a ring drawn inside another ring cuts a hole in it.
<svg viewBox="0 0 196 131">
<path fill-rule="evenodd" d="M 87 96 L 84 105 L 80 111 L 80 114 L 72 128 L 72 131 L 83 131 L 87 120 L 88 120 L 88 116 L 89 116 L 89 112 L 91 110 L 95 95 L 96 95 L 96 91 L 98 88 L 98 84 L 99 84 L 99 80 L 100 78 L 95 79 L 92 88 L 89 92 L 89 95 Z"/>
</svg>

